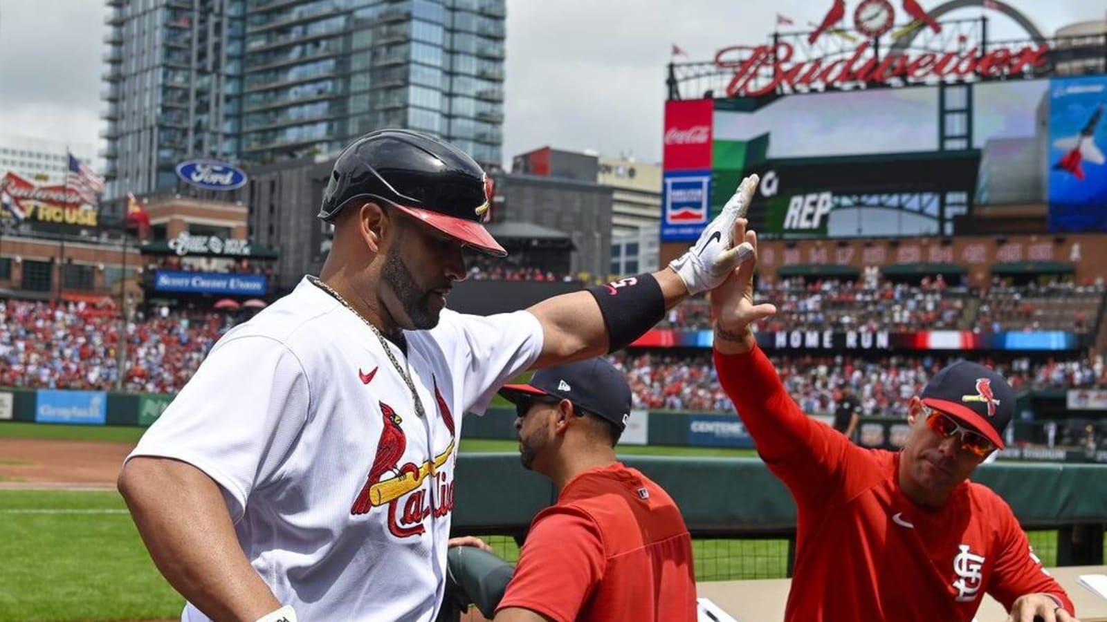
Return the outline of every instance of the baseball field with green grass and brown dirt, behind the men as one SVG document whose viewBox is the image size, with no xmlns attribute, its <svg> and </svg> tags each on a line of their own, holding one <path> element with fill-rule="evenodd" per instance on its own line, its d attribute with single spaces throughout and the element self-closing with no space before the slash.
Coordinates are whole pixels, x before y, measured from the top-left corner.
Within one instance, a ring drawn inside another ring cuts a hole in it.
<svg viewBox="0 0 1107 622">
<path fill-rule="evenodd" d="M 183 600 L 162 579 L 114 489 L 142 434 L 130 427 L 0 423 L 0 622 L 177 620 Z M 462 452 L 514 452 L 510 440 L 463 440 Z M 748 456 L 749 450 L 621 447 L 630 454 Z M 1032 532 L 1046 566 L 1055 536 Z M 508 560 L 515 543 L 489 538 Z M 785 576 L 784 540 L 696 540 L 699 580 Z"/>
</svg>

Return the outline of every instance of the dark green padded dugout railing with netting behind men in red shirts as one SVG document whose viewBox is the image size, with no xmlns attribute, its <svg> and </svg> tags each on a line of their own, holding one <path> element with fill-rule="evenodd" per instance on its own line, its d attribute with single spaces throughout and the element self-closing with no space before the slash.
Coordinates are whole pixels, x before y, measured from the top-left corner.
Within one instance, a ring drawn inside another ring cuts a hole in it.
<svg viewBox="0 0 1107 622">
<path fill-rule="evenodd" d="M 620 456 L 680 506 L 694 539 L 699 580 L 792 576 L 796 507 L 757 458 Z M 973 479 L 1011 505 L 1047 566 L 1104 562 L 1107 465 L 995 463 Z M 488 537 L 509 561 L 530 519 L 557 499 L 552 484 L 518 454 L 458 456 L 453 532 Z"/>
</svg>

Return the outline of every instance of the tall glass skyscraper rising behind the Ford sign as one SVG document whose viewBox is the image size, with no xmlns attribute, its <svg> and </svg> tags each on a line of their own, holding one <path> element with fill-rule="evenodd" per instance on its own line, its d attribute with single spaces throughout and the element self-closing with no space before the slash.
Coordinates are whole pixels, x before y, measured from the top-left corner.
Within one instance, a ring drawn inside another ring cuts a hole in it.
<svg viewBox="0 0 1107 622">
<path fill-rule="evenodd" d="M 411 127 L 500 164 L 505 0 L 107 0 L 108 197 Z"/>
</svg>

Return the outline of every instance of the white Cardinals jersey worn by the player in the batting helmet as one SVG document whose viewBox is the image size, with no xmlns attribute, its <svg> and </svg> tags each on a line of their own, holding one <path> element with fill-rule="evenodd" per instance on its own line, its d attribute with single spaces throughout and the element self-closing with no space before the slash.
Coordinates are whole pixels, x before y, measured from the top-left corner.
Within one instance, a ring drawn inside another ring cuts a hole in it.
<svg viewBox="0 0 1107 622">
<path fill-rule="evenodd" d="M 542 348 L 527 311 L 443 310 L 406 338 L 406 357 L 390 348 L 422 418 L 369 326 L 304 279 L 219 340 L 130 456 L 219 483 L 246 557 L 300 620 L 434 620 L 462 414 Z M 188 604 L 182 620 L 208 618 Z"/>
</svg>

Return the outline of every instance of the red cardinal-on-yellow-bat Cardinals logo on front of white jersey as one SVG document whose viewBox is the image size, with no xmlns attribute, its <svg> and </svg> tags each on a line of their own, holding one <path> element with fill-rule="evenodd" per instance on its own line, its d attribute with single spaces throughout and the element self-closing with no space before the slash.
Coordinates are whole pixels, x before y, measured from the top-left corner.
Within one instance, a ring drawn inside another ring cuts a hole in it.
<svg viewBox="0 0 1107 622">
<path fill-rule="evenodd" d="M 434 384 L 438 416 L 449 432 L 451 442 L 433 459 L 422 465 L 407 462 L 400 465 L 407 437 L 400 426 L 403 419 L 392 406 L 380 403 L 384 428 L 376 444 L 376 457 L 369 469 L 365 485 L 350 507 L 350 514 L 363 515 L 373 508 L 387 506 L 389 531 L 397 538 L 420 536 L 428 517 L 442 518 L 454 509 L 453 474 L 442 470 L 454 454 L 455 428 L 449 406 Z M 430 486 L 424 481 L 430 479 Z"/>
</svg>

